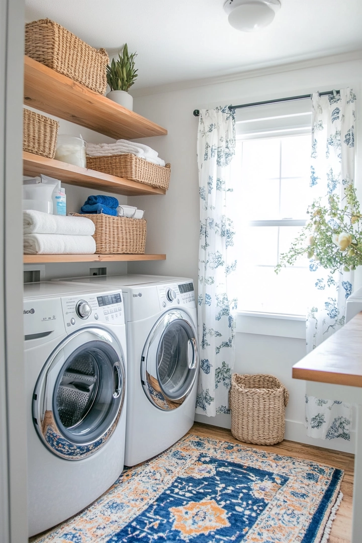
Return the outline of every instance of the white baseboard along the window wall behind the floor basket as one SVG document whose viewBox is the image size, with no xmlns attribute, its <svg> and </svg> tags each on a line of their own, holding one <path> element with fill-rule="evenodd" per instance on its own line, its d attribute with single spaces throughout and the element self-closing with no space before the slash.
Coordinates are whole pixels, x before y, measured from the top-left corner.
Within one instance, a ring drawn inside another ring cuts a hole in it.
<svg viewBox="0 0 362 543">
<path fill-rule="evenodd" d="M 218 426 L 219 428 L 231 427 L 230 415 L 216 415 L 206 416 L 195 414 L 195 421 L 202 422 L 204 424 L 211 424 L 212 426 Z M 306 434 L 306 428 L 303 422 L 296 422 L 294 420 L 285 421 L 285 439 L 289 441 L 296 441 L 297 443 L 304 443 L 306 445 L 314 445 L 315 447 L 323 447 L 324 449 L 332 449 L 341 452 L 350 452 L 354 454 L 355 449 L 355 432 L 351 432 L 351 441 L 345 441 L 344 439 L 314 439 L 309 438 Z"/>
</svg>

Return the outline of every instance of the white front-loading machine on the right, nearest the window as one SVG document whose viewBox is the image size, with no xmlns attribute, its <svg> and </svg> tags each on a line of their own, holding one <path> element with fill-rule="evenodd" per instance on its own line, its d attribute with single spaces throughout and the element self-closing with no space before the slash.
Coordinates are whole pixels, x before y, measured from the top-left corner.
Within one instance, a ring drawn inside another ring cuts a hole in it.
<svg viewBox="0 0 362 543">
<path fill-rule="evenodd" d="M 157 275 L 65 281 L 122 288 L 128 358 L 125 465 L 139 464 L 168 449 L 194 423 L 199 355 L 193 281 Z"/>
</svg>

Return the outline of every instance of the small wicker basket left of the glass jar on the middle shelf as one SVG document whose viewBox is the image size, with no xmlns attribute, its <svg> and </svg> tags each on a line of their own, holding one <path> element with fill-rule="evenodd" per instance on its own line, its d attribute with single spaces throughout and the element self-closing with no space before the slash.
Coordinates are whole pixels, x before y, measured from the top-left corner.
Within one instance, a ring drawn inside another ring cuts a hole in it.
<svg viewBox="0 0 362 543">
<path fill-rule="evenodd" d="M 58 121 L 23 109 L 23 150 L 54 159 L 58 129 Z"/>
</svg>

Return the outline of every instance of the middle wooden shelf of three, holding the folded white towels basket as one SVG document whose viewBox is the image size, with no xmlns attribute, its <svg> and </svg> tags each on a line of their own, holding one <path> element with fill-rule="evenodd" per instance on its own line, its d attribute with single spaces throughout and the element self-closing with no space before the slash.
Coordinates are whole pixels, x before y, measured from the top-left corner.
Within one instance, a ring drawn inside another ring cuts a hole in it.
<svg viewBox="0 0 362 543">
<path fill-rule="evenodd" d="M 69 185 L 108 191 L 126 196 L 166 194 L 164 188 L 151 187 L 137 181 L 130 181 L 95 170 L 80 168 L 59 160 L 23 152 L 24 175 L 49 175 Z"/>
</svg>

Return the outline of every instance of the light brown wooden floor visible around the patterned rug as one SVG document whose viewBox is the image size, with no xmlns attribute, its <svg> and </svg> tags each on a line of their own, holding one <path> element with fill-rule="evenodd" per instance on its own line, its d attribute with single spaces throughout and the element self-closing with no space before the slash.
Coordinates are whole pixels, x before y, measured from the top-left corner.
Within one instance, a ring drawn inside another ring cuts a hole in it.
<svg viewBox="0 0 362 543">
<path fill-rule="evenodd" d="M 240 441 L 232 437 L 230 430 L 218 428 L 217 426 L 200 424 L 199 422 L 195 422 L 189 433 L 203 437 L 225 439 L 226 441 L 232 441 L 233 443 L 240 443 Z M 272 446 L 250 444 L 246 444 L 246 446 L 284 454 L 285 456 L 293 456 L 295 458 L 307 458 L 308 460 L 314 460 L 320 464 L 326 464 L 333 468 L 344 470 L 345 476 L 341 486 L 344 498 L 333 522 L 329 543 L 351 543 L 353 454 L 331 451 L 329 449 L 322 449 L 321 447 L 312 447 L 310 445 L 303 445 L 301 443 L 286 440 L 278 445 Z"/>
</svg>

